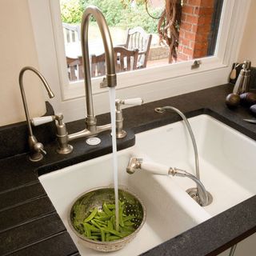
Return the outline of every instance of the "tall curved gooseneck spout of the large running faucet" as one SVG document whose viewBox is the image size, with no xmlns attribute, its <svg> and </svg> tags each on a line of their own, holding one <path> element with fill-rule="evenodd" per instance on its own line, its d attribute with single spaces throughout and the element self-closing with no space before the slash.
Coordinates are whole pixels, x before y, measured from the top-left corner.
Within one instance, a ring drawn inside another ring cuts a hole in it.
<svg viewBox="0 0 256 256">
<path fill-rule="evenodd" d="M 106 24 L 102 12 L 96 6 L 88 6 L 82 15 L 81 23 L 81 46 L 82 46 L 82 62 L 85 74 L 86 87 L 86 125 L 87 129 L 92 133 L 97 133 L 96 118 L 94 116 L 94 106 L 92 98 L 91 78 L 90 78 L 90 54 L 88 49 L 88 28 L 90 16 L 93 16 L 98 23 L 99 30 L 102 34 L 102 41 L 106 56 L 106 84 L 109 87 L 117 85 L 115 73 L 114 50 L 110 30 Z"/>
</svg>

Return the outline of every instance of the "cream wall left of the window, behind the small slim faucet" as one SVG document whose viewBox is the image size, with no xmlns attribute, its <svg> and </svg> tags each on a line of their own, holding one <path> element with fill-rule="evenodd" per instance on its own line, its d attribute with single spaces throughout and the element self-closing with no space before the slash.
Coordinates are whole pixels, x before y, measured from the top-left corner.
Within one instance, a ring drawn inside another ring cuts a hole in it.
<svg viewBox="0 0 256 256">
<path fill-rule="evenodd" d="M 38 68 L 27 0 L 0 2 L 0 126 L 25 120 L 18 74 L 23 66 Z M 42 85 L 30 71 L 24 74 L 31 116 L 46 112 Z"/>
</svg>

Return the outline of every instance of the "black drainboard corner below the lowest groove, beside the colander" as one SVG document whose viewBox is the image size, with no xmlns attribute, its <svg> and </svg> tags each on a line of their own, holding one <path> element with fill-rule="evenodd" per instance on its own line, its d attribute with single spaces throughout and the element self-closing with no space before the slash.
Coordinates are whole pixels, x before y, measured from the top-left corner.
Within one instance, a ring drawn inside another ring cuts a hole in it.
<svg viewBox="0 0 256 256">
<path fill-rule="evenodd" d="M 67 232 L 18 250 L 10 256 L 78 256 L 78 249 Z"/>
</svg>

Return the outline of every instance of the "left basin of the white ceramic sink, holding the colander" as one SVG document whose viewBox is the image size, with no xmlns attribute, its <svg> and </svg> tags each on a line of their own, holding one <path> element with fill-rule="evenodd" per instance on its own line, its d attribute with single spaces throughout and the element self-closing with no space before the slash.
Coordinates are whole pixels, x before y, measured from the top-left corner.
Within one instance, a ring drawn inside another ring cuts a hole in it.
<svg viewBox="0 0 256 256">
<path fill-rule="evenodd" d="M 146 222 L 137 237 L 122 249 L 122 255 L 127 256 L 141 254 L 210 218 L 204 210 L 198 210 L 197 204 L 171 178 L 143 172 L 127 174 L 127 163 L 134 154 L 140 154 L 136 147 L 118 152 L 118 180 L 142 199 Z M 70 230 L 67 223 L 70 204 L 86 190 L 113 184 L 112 172 L 109 154 L 39 177 L 82 255 L 102 254 L 82 246 Z M 117 251 L 108 255 L 120 254 L 121 251 Z"/>
</svg>

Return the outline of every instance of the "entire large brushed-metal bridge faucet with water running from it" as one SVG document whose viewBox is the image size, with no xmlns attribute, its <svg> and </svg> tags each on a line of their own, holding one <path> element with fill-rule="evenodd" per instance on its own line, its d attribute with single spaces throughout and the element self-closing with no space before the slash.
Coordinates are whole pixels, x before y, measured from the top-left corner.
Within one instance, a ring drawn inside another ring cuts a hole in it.
<svg viewBox="0 0 256 256">
<path fill-rule="evenodd" d="M 78 131 L 74 134 L 68 134 L 66 130 L 66 125 L 62 122 L 62 115 L 56 115 L 57 126 L 57 137 L 58 137 L 58 153 L 59 154 L 69 154 L 73 147 L 68 144 L 68 142 L 83 137 L 93 137 L 105 130 L 111 130 L 111 124 L 106 124 L 105 126 L 97 126 L 97 119 L 94 115 L 94 104 L 93 95 L 91 88 L 91 78 L 90 78 L 90 58 L 88 49 L 88 28 L 90 16 L 94 16 L 96 22 L 98 23 L 99 30 L 102 34 L 102 41 L 106 56 L 106 78 L 103 78 L 103 86 L 114 87 L 117 85 L 117 75 L 115 73 L 115 59 L 112 39 L 110 36 L 110 30 L 106 24 L 106 19 L 104 18 L 102 12 L 96 6 L 88 6 L 82 15 L 81 24 L 81 46 L 82 46 L 82 62 L 83 70 L 85 74 L 85 88 L 86 88 L 86 128 L 84 130 Z M 142 105 L 142 98 L 132 98 L 126 100 L 116 100 L 116 136 L 117 138 L 124 138 L 126 132 L 122 130 L 123 118 L 121 105 Z"/>
</svg>

